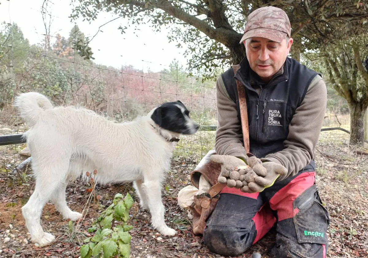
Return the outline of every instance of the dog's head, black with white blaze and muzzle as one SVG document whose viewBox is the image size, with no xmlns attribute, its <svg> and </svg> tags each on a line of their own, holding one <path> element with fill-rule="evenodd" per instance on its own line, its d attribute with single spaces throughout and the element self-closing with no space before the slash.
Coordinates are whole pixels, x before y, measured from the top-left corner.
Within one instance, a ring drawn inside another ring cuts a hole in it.
<svg viewBox="0 0 368 258">
<path fill-rule="evenodd" d="M 189 118 L 189 111 L 181 101 L 166 102 L 153 111 L 152 120 L 165 130 L 192 135 L 199 125 Z"/>
</svg>

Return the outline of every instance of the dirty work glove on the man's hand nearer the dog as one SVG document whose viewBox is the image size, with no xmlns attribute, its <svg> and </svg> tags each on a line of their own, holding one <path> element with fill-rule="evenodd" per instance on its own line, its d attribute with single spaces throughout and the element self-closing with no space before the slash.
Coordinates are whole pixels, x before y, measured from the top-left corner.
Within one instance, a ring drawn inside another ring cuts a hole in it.
<svg viewBox="0 0 368 258">
<path fill-rule="evenodd" d="M 230 155 L 214 154 L 211 155 L 210 161 L 221 165 L 221 173 L 217 178 L 217 182 L 235 188 L 243 186 L 243 183 L 239 180 L 240 173 L 236 170 L 238 166 L 245 165 L 242 159 Z"/>
</svg>

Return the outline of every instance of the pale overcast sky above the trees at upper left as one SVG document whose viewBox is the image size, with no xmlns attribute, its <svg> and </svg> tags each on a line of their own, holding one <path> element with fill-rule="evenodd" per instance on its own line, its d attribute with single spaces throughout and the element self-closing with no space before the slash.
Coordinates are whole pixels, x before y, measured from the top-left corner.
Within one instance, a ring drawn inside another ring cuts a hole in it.
<svg viewBox="0 0 368 258">
<path fill-rule="evenodd" d="M 22 30 L 24 36 L 31 44 L 42 41 L 45 27 L 42 20 L 43 0 L 0 0 L 1 22 L 15 22 Z M 75 25 L 68 16 L 72 6 L 70 0 L 48 1 L 47 13 L 51 14 L 51 34 L 59 33 L 68 38 L 71 28 Z M 79 18 L 76 23 L 86 36 L 95 35 L 98 28 L 107 21 L 117 17 L 110 13 L 99 14 L 97 20 L 91 24 Z M 50 17 L 48 17 L 48 20 Z M 3 28 L 4 24 L 1 24 Z M 93 51 L 94 62 L 120 68 L 121 65 L 133 65 L 138 69 L 149 67 L 152 71 L 167 68 L 170 62 L 176 58 L 181 64 L 186 65 L 184 50 L 176 47 L 176 42 L 169 43 L 167 35 L 169 29 L 160 33 L 153 32 L 149 25 L 138 25 L 128 28 L 125 34 L 117 28 L 127 25 L 126 20 L 119 18 L 103 26 L 90 43 Z M 143 60 L 143 61 L 142 61 Z M 162 64 L 162 65 L 160 65 Z"/>
</svg>

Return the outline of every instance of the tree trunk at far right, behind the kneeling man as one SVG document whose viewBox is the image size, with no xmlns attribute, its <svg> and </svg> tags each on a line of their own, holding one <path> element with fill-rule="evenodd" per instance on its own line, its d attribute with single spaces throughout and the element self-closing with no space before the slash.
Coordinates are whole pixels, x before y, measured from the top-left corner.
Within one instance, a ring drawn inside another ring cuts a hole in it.
<svg viewBox="0 0 368 258">
<path fill-rule="evenodd" d="M 366 107 L 365 107 L 366 108 Z M 364 110 L 361 102 L 350 104 L 350 145 L 363 145 L 364 143 Z"/>
</svg>

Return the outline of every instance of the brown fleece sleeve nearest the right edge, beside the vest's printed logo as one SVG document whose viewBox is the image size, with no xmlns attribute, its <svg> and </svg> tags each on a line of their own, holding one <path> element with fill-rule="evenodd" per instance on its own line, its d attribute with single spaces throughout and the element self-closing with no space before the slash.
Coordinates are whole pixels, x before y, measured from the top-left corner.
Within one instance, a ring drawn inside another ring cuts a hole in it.
<svg viewBox="0 0 368 258">
<path fill-rule="evenodd" d="M 317 75 L 309 85 L 301 105 L 296 109 L 289 125 L 289 134 L 281 151 L 266 156 L 269 160 L 282 164 L 289 175 L 297 174 L 314 158 L 313 151 L 325 117 L 327 88 L 325 81 Z"/>
</svg>

